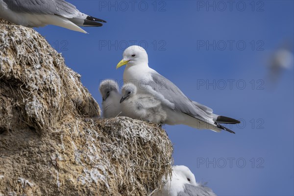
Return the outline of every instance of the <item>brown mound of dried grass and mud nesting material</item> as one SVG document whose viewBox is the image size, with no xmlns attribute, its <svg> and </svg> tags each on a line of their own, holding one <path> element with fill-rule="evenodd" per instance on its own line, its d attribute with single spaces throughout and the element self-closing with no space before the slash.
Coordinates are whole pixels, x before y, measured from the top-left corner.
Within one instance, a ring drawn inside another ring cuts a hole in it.
<svg viewBox="0 0 294 196">
<path fill-rule="evenodd" d="M 159 188 L 172 169 L 166 132 L 99 116 L 61 54 L 35 30 L 0 19 L 0 195 L 146 196 Z"/>
</svg>

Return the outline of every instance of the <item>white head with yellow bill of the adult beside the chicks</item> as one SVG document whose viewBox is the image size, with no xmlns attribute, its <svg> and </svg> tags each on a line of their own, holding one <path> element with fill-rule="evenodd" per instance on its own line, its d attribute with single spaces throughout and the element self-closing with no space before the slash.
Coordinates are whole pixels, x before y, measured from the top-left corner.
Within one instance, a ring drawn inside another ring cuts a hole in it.
<svg viewBox="0 0 294 196">
<path fill-rule="evenodd" d="M 133 66 L 147 64 L 148 65 L 148 55 L 145 49 L 140 46 L 130 46 L 123 52 L 123 60 L 117 65 L 117 69 L 123 65 Z"/>
</svg>

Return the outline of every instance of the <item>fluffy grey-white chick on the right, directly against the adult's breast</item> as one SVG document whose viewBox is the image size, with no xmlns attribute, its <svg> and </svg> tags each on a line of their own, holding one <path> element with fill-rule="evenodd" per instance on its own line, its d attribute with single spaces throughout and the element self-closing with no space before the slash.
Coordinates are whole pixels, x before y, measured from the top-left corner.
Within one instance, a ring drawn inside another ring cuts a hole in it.
<svg viewBox="0 0 294 196">
<path fill-rule="evenodd" d="M 150 94 L 138 94 L 137 87 L 126 83 L 122 88 L 123 116 L 139 119 L 149 123 L 162 124 L 167 118 L 161 107 L 161 101 Z"/>
</svg>

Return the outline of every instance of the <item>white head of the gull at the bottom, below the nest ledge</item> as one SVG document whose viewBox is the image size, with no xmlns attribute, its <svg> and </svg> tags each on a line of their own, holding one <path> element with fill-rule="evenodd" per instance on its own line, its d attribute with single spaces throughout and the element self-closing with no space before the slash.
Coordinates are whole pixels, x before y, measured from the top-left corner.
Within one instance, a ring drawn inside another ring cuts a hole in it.
<svg viewBox="0 0 294 196">
<path fill-rule="evenodd" d="M 197 186 L 195 175 L 186 166 L 172 167 L 172 183 L 180 180 L 184 184 L 191 184 Z"/>
</svg>

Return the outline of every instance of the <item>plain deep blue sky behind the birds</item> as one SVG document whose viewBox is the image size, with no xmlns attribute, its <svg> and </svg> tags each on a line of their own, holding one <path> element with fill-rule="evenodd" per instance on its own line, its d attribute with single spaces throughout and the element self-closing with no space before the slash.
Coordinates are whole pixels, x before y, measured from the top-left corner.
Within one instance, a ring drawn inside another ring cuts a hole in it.
<svg viewBox="0 0 294 196">
<path fill-rule="evenodd" d="M 106 20 L 82 34 L 37 28 L 101 103 L 99 81 L 121 80 L 123 50 L 145 47 L 149 66 L 189 98 L 241 119 L 236 134 L 175 125 L 165 129 L 174 164 L 220 196 L 294 195 L 294 69 L 273 85 L 266 62 L 294 40 L 294 1 L 71 0 Z"/>
</svg>

